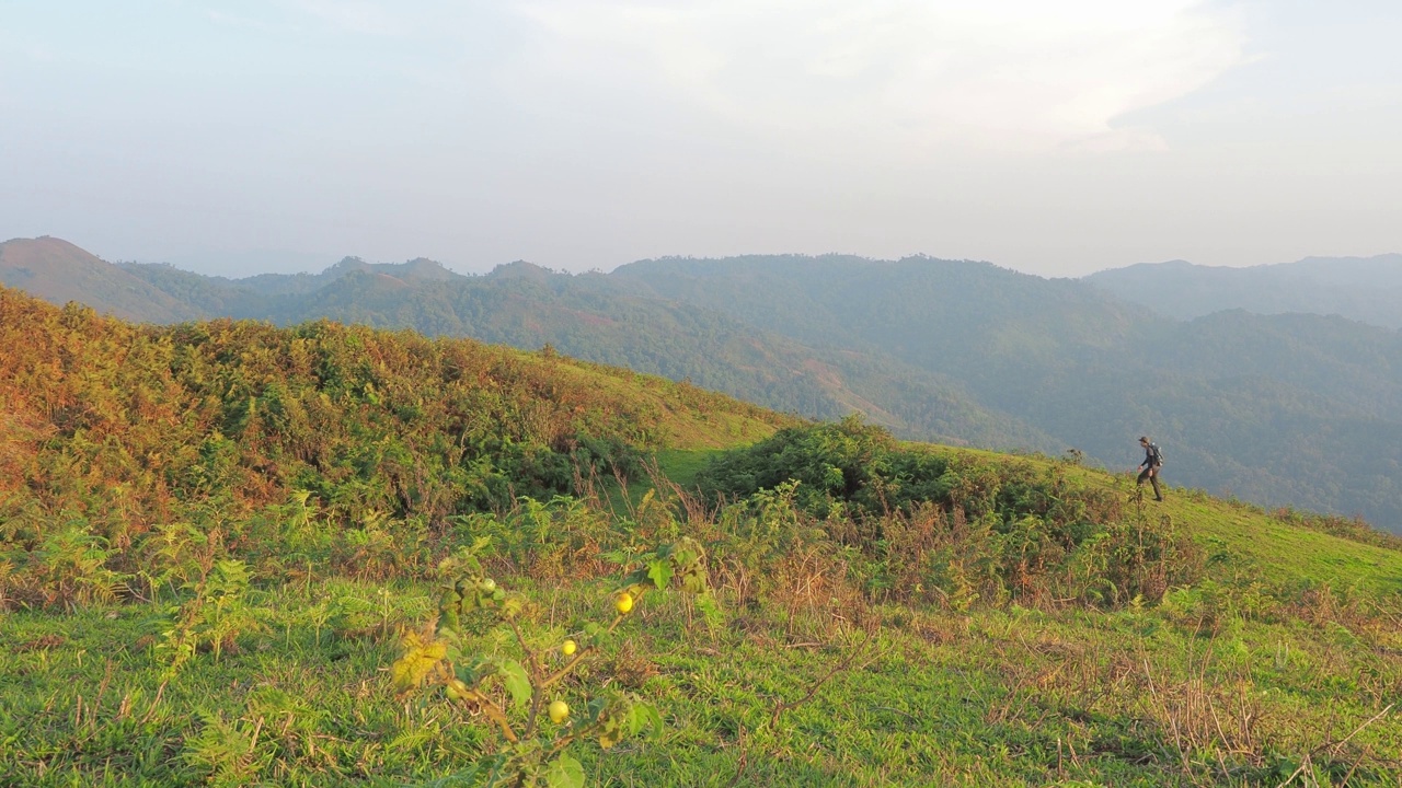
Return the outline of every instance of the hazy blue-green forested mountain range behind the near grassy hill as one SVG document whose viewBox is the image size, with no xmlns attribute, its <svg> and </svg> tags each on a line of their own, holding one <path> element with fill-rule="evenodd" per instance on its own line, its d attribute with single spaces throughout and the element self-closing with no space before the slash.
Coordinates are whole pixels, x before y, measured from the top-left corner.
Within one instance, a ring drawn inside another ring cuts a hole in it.
<svg viewBox="0 0 1402 788">
<path fill-rule="evenodd" d="M 1398 255 L 1366 262 L 1378 292 L 1402 276 Z M 1112 289 L 1110 275 L 1185 265 L 1049 280 L 972 261 L 780 255 L 463 276 L 426 259 L 346 258 L 317 275 L 223 279 L 109 265 L 55 238 L 0 244 L 4 283 L 123 317 L 324 317 L 551 345 L 777 409 L 861 411 L 916 439 L 1075 447 L 1110 468 L 1134 466 L 1148 433 L 1172 484 L 1402 531 L 1402 334 L 1363 311 L 1251 314 L 1235 301 L 1183 320 L 1166 285 L 1123 285 L 1150 293 L 1151 308 Z M 1267 268 L 1291 269 L 1280 282 L 1329 271 L 1291 266 Z M 1336 290 L 1360 279 L 1343 275 Z M 101 287 L 74 285 L 90 280 Z M 56 283 L 67 289 L 42 289 Z"/>
</svg>

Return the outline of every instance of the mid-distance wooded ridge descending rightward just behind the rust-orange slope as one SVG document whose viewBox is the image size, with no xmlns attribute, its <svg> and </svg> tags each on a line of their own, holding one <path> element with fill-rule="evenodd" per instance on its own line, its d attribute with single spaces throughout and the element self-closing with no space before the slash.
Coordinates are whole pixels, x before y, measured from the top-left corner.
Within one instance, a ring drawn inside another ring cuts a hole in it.
<svg viewBox="0 0 1402 788">
<path fill-rule="evenodd" d="M 1061 449 L 1059 440 L 1016 416 L 977 404 L 958 383 L 878 349 L 810 348 L 705 306 L 620 292 L 614 279 L 601 275 L 569 276 L 517 262 L 464 278 L 425 261 L 372 266 L 350 258 L 317 276 L 247 280 L 192 280 L 195 275 L 167 266 L 130 271 L 172 293 L 213 289 L 199 301 L 209 315 L 283 325 L 328 318 L 523 349 L 551 345 L 580 359 L 691 380 L 812 418 L 858 411 L 913 436 Z M 255 282 L 271 294 L 254 294 Z"/>
</svg>

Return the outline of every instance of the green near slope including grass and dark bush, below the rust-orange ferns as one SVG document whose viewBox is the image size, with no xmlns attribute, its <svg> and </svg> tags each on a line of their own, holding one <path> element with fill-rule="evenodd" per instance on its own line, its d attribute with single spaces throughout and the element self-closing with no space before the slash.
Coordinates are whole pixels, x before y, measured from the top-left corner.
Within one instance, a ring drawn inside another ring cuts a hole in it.
<svg viewBox="0 0 1402 788">
<path fill-rule="evenodd" d="M 855 419 L 702 453 L 736 491 L 802 481 L 709 509 L 672 484 L 695 478 L 656 477 L 613 515 L 520 499 L 428 533 L 297 498 L 125 544 L 94 538 L 95 517 L 25 522 L 46 538 L 6 565 L 0 603 L 31 571 L 56 599 L 4 613 L 0 770 L 25 785 L 460 784 L 484 764 L 530 774 L 538 760 L 503 759 L 526 750 L 568 753 L 566 784 L 1396 782 L 1395 538 L 1176 488 L 1157 505 L 1126 475 L 897 444 Z M 704 554 L 709 590 L 683 593 L 658 541 Z M 146 573 L 104 599 L 121 552 Z M 621 613 L 618 589 L 651 578 L 673 579 Z M 485 599 L 505 623 L 474 609 L 444 625 L 482 599 L 468 589 L 501 593 Z M 534 726 L 538 704 L 510 698 L 545 672 L 561 679 L 531 697 L 568 719 Z M 599 722 L 639 707 L 653 725 Z"/>
</svg>

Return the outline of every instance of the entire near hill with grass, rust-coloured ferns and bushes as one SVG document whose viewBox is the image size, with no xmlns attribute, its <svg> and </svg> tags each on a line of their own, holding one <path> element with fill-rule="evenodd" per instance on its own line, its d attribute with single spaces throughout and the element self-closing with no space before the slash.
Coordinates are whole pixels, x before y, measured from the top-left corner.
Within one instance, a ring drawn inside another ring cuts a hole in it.
<svg viewBox="0 0 1402 788">
<path fill-rule="evenodd" d="M 545 785 L 1389 785 L 1402 766 L 1402 550 L 1356 522 L 1157 505 L 1075 456 L 805 423 L 554 351 L 132 325 L 3 289 L 0 331 L 24 348 L 0 355 L 18 784 L 464 784 L 491 763 Z M 620 587 L 637 610 L 614 613 Z M 446 628 L 467 599 L 486 607 Z M 615 637 L 590 628 L 610 617 Z M 566 638 L 580 667 L 550 697 L 575 716 L 510 745 L 484 709 L 533 731 L 510 698 Z M 624 708 L 651 711 L 607 728 Z M 550 768 L 530 749 L 582 729 Z"/>
</svg>

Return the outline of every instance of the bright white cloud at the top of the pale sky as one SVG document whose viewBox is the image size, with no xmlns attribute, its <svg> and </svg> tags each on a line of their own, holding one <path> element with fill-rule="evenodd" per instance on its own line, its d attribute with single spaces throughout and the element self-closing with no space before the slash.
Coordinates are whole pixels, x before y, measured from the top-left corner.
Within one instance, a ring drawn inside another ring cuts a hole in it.
<svg viewBox="0 0 1402 788">
<path fill-rule="evenodd" d="M 534 76 L 813 146 L 1155 147 L 1116 119 L 1245 62 L 1187 0 L 517 0 Z"/>
</svg>

